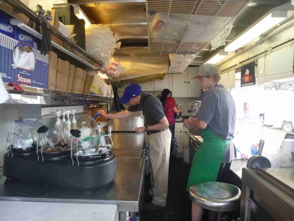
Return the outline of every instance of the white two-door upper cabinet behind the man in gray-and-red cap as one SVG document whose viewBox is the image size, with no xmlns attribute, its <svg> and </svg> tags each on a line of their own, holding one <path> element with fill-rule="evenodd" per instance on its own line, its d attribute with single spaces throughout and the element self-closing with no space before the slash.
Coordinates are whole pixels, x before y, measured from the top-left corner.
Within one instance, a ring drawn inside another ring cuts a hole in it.
<svg viewBox="0 0 294 221">
<path fill-rule="evenodd" d="M 198 67 L 188 67 L 180 74 L 172 74 L 172 96 L 174 98 L 199 98 L 201 87 L 196 76 Z"/>
</svg>

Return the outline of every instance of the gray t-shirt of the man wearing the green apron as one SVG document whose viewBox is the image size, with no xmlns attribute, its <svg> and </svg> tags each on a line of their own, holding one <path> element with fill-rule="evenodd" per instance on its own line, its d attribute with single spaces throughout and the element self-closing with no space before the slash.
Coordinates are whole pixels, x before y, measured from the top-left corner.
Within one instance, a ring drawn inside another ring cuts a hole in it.
<svg viewBox="0 0 294 221">
<path fill-rule="evenodd" d="M 204 92 L 196 118 L 207 123 L 211 131 L 220 138 L 225 141 L 232 140 L 235 133 L 236 110 L 230 92 L 219 85 Z M 225 147 L 222 163 L 229 163 L 235 159 L 237 153 L 231 142 Z"/>
</svg>

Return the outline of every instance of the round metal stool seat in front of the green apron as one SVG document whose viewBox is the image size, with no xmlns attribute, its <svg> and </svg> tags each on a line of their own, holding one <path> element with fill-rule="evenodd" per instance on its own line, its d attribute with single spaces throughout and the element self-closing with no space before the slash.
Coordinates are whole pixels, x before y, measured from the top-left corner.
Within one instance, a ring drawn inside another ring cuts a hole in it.
<svg viewBox="0 0 294 221">
<path fill-rule="evenodd" d="M 231 184 L 202 182 L 190 187 L 189 197 L 205 209 L 229 212 L 240 207 L 240 194 L 240 189 Z"/>
</svg>

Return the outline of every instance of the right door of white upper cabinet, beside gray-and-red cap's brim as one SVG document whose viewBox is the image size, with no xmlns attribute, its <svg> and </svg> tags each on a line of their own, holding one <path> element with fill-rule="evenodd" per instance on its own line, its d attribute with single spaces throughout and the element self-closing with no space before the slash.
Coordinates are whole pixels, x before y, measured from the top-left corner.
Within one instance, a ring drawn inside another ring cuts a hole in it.
<svg viewBox="0 0 294 221">
<path fill-rule="evenodd" d="M 187 68 L 187 75 L 188 75 L 188 87 L 187 87 L 187 97 L 188 98 L 199 98 L 200 97 L 200 92 L 201 92 L 201 87 L 198 84 L 198 79 L 192 79 L 193 77 L 196 76 L 198 67 L 188 67 Z"/>
</svg>

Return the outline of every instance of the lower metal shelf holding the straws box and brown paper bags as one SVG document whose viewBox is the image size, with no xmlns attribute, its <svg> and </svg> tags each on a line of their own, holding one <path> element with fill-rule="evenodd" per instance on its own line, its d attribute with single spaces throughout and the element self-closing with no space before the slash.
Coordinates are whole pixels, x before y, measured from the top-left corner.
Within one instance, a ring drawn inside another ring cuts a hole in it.
<svg viewBox="0 0 294 221">
<path fill-rule="evenodd" d="M 48 104 L 48 105 L 88 105 L 108 104 L 112 98 L 52 91 L 42 88 L 22 86 L 24 91 L 5 86 L 9 93 L 8 104 Z"/>
</svg>

